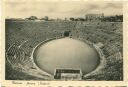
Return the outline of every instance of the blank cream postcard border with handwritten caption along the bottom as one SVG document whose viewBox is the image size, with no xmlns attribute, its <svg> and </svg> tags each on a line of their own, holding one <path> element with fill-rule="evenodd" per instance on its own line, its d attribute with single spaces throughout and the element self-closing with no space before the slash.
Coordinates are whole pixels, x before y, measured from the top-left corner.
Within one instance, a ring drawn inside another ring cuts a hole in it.
<svg viewBox="0 0 128 87">
<path fill-rule="evenodd" d="M 3 0 L 5 1 L 5 0 Z M 13 0 L 12 0 L 13 1 Z M 22 0 L 23 1 L 23 0 Z M 40 0 L 37 0 L 40 1 Z M 50 0 L 47 0 L 50 1 Z M 59 1 L 59 0 L 51 0 L 51 1 Z M 68 0 L 61 0 L 61 1 L 68 1 Z M 88 0 L 72 0 L 72 1 L 88 1 Z M 92 1 L 98 1 L 98 0 L 92 0 Z M 100 0 L 101 1 L 101 0 Z M 104 1 L 121 1 L 121 0 L 104 0 Z M 13 81 L 11 80 L 4 80 L 5 77 L 5 26 L 4 26 L 4 3 L 0 3 L 1 5 L 1 12 L 2 15 L 0 22 L 1 22 L 1 26 L 0 27 L 0 41 L 1 41 L 1 66 L 2 66 L 2 72 L 1 72 L 1 81 L 2 81 L 2 86 L 5 87 L 58 87 L 58 86 L 62 86 L 62 87 L 85 87 L 85 86 L 101 86 L 101 87 L 105 87 L 105 86 L 126 86 L 128 85 L 128 2 L 127 0 L 123 0 L 124 1 L 124 7 L 123 7 L 123 16 L 124 16 L 124 24 L 123 24 L 123 61 L 124 61 L 124 81 L 16 81 L 16 82 L 20 82 L 22 84 L 12 84 Z M 0 13 L 1 13 L 0 12 Z M 31 82 L 31 83 L 35 83 L 35 85 L 26 85 L 27 82 Z M 42 83 L 39 85 L 39 83 Z"/>
</svg>

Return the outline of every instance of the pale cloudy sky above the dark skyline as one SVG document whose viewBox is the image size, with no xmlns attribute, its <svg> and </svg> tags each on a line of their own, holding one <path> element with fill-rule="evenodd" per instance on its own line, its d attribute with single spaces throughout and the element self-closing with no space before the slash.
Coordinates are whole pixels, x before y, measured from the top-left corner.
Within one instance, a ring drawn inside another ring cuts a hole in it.
<svg viewBox="0 0 128 87">
<path fill-rule="evenodd" d="M 85 2 L 85 1 L 5 1 L 5 15 L 9 18 L 39 18 L 84 17 L 88 13 L 104 13 L 105 15 L 122 14 L 120 2 Z"/>
</svg>

